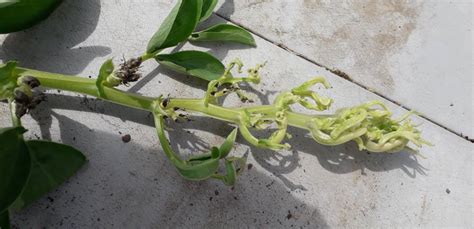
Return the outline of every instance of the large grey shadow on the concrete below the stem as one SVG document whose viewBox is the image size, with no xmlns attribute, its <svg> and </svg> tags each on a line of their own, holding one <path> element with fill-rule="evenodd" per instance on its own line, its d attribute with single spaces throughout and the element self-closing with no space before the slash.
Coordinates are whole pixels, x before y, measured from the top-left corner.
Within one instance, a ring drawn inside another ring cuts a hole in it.
<svg viewBox="0 0 474 229">
<path fill-rule="evenodd" d="M 319 209 L 296 199 L 285 185 L 256 169 L 246 171 L 234 188 L 213 180 L 187 181 L 168 163 L 157 140 L 153 147 L 134 141 L 123 143 L 120 134 L 104 132 L 101 127 L 91 129 L 90 123 L 85 125 L 68 118 L 60 114 L 61 110 L 91 112 L 87 113 L 90 119 L 99 120 L 102 116 L 117 116 L 153 129 L 153 118 L 146 112 L 96 99 L 49 94 L 48 102 L 31 113 L 41 126 L 41 135 L 56 136 L 57 132 L 51 133 L 51 125 L 57 122 L 61 141 L 85 152 L 89 163 L 47 198 L 15 214 L 13 224 L 20 228 L 95 227 L 114 223 L 121 227 L 153 227 L 158 223 L 176 227 L 238 227 L 244 222 L 264 227 L 328 226 Z M 232 129 L 224 123 L 209 125 L 207 121 L 203 118 L 172 125 L 186 126 L 182 131 L 171 131 L 175 139 L 173 147 L 208 147 L 201 138 L 187 133 L 188 129 L 210 131 L 223 137 Z M 104 125 L 110 127 L 113 123 Z M 29 133 L 30 137 L 34 135 Z M 290 213 L 300 218 L 289 219 Z M 47 220 L 35 222 L 34 219 Z"/>
</svg>

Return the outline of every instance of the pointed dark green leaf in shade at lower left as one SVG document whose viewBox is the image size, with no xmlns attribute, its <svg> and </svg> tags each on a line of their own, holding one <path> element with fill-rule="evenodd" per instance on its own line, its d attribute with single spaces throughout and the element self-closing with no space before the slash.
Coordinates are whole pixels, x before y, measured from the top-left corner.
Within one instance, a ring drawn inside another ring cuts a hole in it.
<svg viewBox="0 0 474 229">
<path fill-rule="evenodd" d="M 31 175 L 20 197 L 12 206 L 24 209 L 74 175 L 86 162 L 77 149 L 55 142 L 26 142 L 31 155 Z"/>
</svg>

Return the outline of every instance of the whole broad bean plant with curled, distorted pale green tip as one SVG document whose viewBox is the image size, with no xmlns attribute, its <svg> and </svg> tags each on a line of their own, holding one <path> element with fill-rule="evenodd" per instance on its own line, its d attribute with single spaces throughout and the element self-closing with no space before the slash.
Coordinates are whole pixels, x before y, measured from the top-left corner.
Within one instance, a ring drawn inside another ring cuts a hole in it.
<svg viewBox="0 0 474 229">
<path fill-rule="evenodd" d="M 58 89 L 81 93 L 153 114 L 156 133 L 164 153 L 185 179 L 201 181 L 217 179 L 234 185 L 245 169 L 246 155 L 231 155 L 237 134 L 251 145 L 270 150 L 290 148 L 285 142 L 291 137 L 288 127 L 307 130 L 314 141 L 323 145 L 339 145 L 354 141 L 360 150 L 377 153 L 399 152 L 410 146 L 429 144 L 412 124 L 408 113 L 392 118 L 392 112 L 379 101 L 339 109 L 334 114 L 305 114 L 293 111 L 293 105 L 312 111 L 325 111 L 333 100 L 319 95 L 311 88 L 330 88 L 323 77 L 310 79 L 300 86 L 281 92 L 272 104 L 251 105 L 251 98 L 241 89 L 242 84 L 258 84 L 259 70 L 264 65 L 243 70 L 240 60 L 225 66 L 206 52 L 163 50 L 182 42 L 221 41 L 255 46 L 252 35 L 245 29 L 218 24 L 202 31 L 196 26 L 206 20 L 217 0 L 180 0 L 171 10 L 158 31 L 150 39 L 146 51 L 136 58 L 124 60 L 115 67 L 107 60 L 95 79 L 68 76 L 20 67 L 16 62 L 0 66 L 0 99 L 8 103 L 12 127 L 0 129 L 0 226 L 9 228 L 9 214 L 21 210 L 71 177 L 86 162 L 77 149 L 43 140 L 26 140 L 27 131 L 21 118 L 38 106 L 46 96 L 42 90 Z M 154 60 L 179 73 L 208 81 L 200 98 L 148 97 L 117 88 L 140 80 L 140 66 Z M 240 107 L 224 107 L 222 98 L 235 93 L 242 101 Z M 165 126 L 172 120 L 200 114 L 223 120 L 235 126 L 220 146 L 208 152 L 184 158 L 172 149 Z M 268 137 L 257 137 L 256 130 L 270 130 Z M 223 166 L 224 170 L 219 170 Z"/>
</svg>

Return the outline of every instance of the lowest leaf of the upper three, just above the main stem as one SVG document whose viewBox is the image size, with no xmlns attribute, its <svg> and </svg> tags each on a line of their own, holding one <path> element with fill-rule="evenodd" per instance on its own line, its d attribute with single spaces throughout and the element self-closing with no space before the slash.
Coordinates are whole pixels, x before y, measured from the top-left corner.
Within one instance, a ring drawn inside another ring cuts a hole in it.
<svg viewBox="0 0 474 229">
<path fill-rule="evenodd" d="M 155 59 L 176 72 L 196 76 L 207 81 L 220 78 L 225 71 L 224 65 L 217 58 L 201 51 L 160 54 Z"/>
</svg>

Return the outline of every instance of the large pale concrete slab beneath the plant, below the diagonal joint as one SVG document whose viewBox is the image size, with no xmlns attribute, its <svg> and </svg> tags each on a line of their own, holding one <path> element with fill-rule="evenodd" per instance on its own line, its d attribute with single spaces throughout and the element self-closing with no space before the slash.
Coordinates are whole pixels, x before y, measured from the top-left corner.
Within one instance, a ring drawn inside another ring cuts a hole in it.
<svg viewBox="0 0 474 229">
<path fill-rule="evenodd" d="M 173 2 L 66 1 L 41 25 L 0 37 L 0 59 L 94 78 L 107 58 L 140 55 Z M 285 20 L 281 17 L 280 22 Z M 206 24 L 218 21 L 223 19 L 213 16 Z M 257 103 L 271 102 L 277 92 L 315 75 L 325 75 L 333 85 L 323 93 L 335 99 L 335 109 L 385 101 L 275 44 L 258 37 L 256 42 L 258 47 L 252 49 L 217 43 L 180 49 L 209 50 L 226 63 L 240 57 L 249 67 L 268 61 L 262 84 L 251 87 Z M 150 96 L 199 97 L 206 86 L 152 62 L 143 72 L 150 73 L 124 89 Z M 185 86 L 189 81 L 191 87 Z M 48 101 L 24 120 L 28 138 L 71 144 L 89 163 L 66 184 L 15 214 L 13 223 L 19 228 L 473 226 L 473 144 L 425 119 L 416 121 L 436 145 L 422 149 L 426 158 L 407 152 L 367 154 L 352 143 L 321 146 L 294 128 L 292 151 L 259 150 L 239 137 L 234 153 L 250 152 L 253 168 L 231 189 L 217 181 L 183 180 L 163 155 L 148 113 L 72 93 L 49 93 Z M 385 102 L 397 115 L 406 112 Z M 240 104 L 230 99 L 226 105 Z M 0 126 L 10 125 L 5 105 L 0 112 Z M 209 148 L 233 128 L 204 117 L 195 120 L 171 125 L 175 149 L 189 153 Z M 124 134 L 131 135 L 131 142 L 122 142 Z"/>
</svg>

